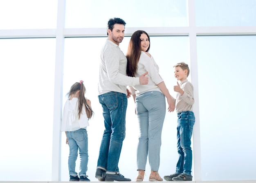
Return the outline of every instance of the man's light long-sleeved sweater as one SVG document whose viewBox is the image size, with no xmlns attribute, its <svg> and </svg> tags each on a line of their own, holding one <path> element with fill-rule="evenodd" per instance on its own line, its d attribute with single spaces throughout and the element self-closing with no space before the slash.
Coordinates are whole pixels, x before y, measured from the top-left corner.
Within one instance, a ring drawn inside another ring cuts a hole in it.
<svg viewBox="0 0 256 183">
<path fill-rule="evenodd" d="M 139 78 L 126 76 L 127 58 L 120 47 L 106 40 L 101 50 L 98 94 L 120 92 L 127 95 L 127 86 L 139 85 Z"/>
</svg>

